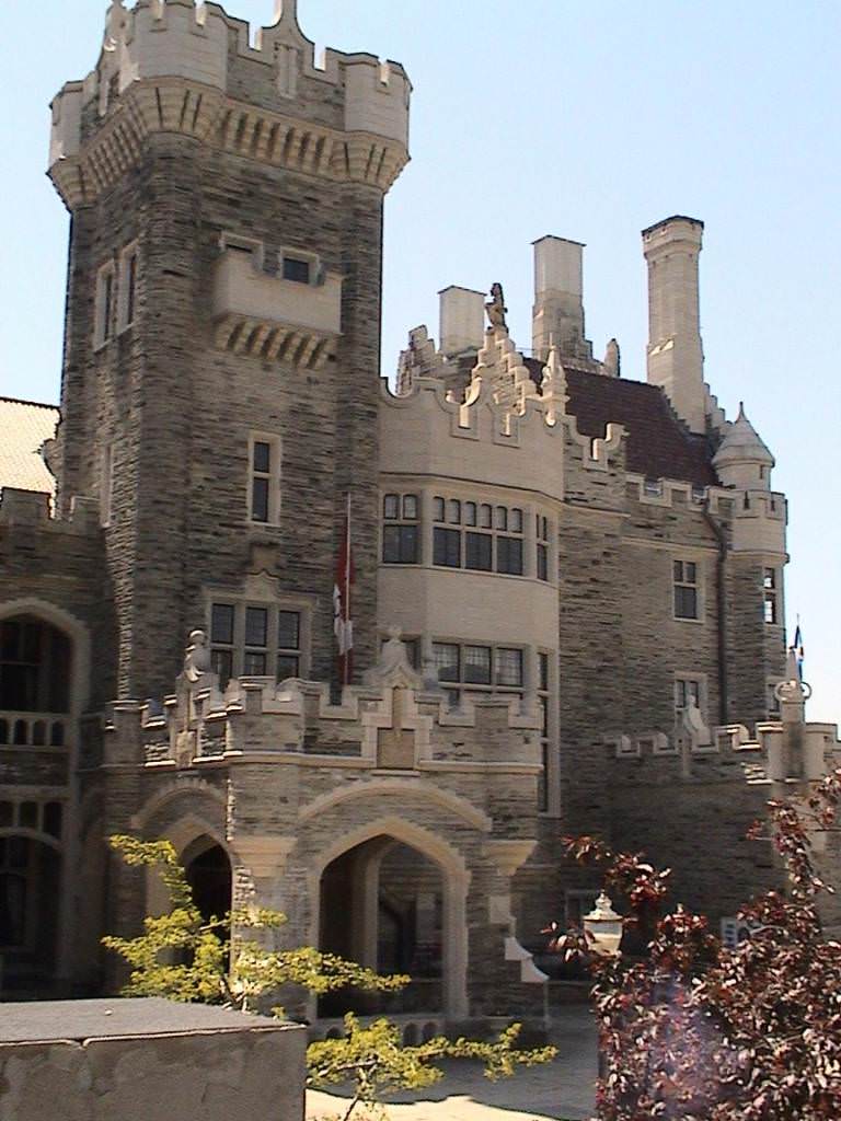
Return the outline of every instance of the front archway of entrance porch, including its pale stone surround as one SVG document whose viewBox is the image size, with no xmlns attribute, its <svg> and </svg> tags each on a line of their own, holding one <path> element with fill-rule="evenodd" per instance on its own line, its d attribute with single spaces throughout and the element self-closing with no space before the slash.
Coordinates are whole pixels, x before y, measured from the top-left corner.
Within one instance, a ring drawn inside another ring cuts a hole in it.
<svg viewBox="0 0 841 1121">
<path fill-rule="evenodd" d="M 440 836 L 398 817 L 380 818 L 322 854 L 311 880 L 312 943 L 376 969 L 399 962 L 413 984 L 390 1010 L 423 1008 L 462 1019 L 468 881 L 463 859 Z"/>
</svg>

